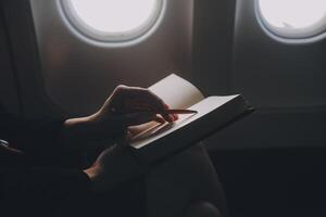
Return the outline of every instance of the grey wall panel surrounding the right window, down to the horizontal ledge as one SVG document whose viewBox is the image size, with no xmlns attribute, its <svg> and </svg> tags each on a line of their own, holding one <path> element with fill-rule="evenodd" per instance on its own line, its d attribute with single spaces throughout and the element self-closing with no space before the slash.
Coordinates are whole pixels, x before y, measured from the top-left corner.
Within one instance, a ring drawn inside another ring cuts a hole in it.
<svg viewBox="0 0 326 217">
<path fill-rule="evenodd" d="M 326 40 L 281 42 L 258 16 L 255 0 L 237 2 L 233 89 L 260 108 L 326 108 Z"/>
</svg>

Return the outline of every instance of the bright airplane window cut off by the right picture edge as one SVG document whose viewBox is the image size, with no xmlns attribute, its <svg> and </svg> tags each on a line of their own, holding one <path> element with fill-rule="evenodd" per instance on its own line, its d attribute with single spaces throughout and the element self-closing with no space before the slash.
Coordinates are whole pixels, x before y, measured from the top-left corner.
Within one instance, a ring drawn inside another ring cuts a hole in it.
<svg viewBox="0 0 326 217">
<path fill-rule="evenodd" d="M 264 27 L 287 39 L 318 36 L 326 29 L 325 0 L 258 0 Z"/>
</svg>

